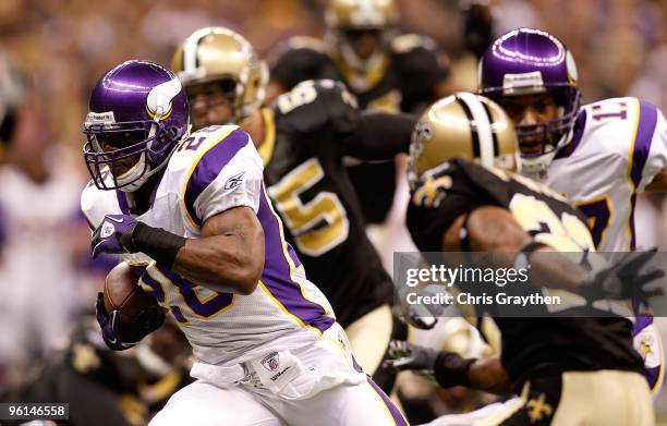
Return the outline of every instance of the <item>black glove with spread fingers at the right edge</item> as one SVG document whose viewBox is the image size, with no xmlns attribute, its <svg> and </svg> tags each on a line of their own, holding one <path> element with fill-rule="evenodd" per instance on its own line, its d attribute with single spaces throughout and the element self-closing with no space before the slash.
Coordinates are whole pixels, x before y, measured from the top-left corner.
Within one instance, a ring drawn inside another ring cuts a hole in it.
<svg viewBox="0 0 667 426">
<path fill-rule="evenodd" d="M 589 303 L 599 299 L 633 300 L 648 303 L 648 299 L 665 294 L 662 289 L 647 290 L 645 285 L 665 276 L 660 269 L 651 269 L 640 275 L 640 269 L 655 256 L 655 248 L 648 252 L 632 252 L 614 265 L 591 275 L 580 285 L 580 294 Z"/>
</svg>

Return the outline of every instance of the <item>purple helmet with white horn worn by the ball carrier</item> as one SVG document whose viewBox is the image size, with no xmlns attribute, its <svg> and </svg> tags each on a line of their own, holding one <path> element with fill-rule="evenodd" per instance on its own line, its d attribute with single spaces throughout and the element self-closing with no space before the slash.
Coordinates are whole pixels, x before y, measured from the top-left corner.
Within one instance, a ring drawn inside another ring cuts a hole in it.
<svg viewBox="0 0 667 426">
<path fill-rule="evenodd" d="M 166 68 L 132 60 L 106 72 L 90 94 L 84 158 L 100 190 L 136 191 L 161 170 L 189 132 L 187 98 Z"/>
</svg>

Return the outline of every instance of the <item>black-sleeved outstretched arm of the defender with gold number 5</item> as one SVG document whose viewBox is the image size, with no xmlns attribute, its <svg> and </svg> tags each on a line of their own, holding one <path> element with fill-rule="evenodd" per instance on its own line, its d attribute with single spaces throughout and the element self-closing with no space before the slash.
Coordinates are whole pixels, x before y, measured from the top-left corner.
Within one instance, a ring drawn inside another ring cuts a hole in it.
<svg viewBox="0 0 667 426">
<path fill-rule="evenodd" d="M 342 154 L 362 160 L 388 160 L 407 154 L 414 125 L 409 114 L 362 112 L 359 126 L 342 142 Z"/>
</svg>

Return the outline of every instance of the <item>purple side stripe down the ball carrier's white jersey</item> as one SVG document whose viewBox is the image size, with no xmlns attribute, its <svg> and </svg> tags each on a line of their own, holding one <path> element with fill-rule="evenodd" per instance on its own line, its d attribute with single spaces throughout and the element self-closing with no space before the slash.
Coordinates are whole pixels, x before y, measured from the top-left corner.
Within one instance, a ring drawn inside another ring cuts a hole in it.
<svg viewBox="0 0 667 426">
<path fill-rule="evenodd" d="M 299 318 L 306 326 L 325 331 L 331 327 L 333 318 L 325 316 L 324 307 L 305 299 L 301 293 L 299 283 L 292 281 L 292 269 L 283 249 L 287 243 L 282 239 L 282 224 L 271 209 L 264 186 L 262 191 L 263 196 L 257 211 L 257 217 L 264 228 L 266 256 L 264 270 L 262 271 L 262 282 L 289 314 Z M 299 259 L 296 254 L 288 256 Z M 296 263 L 294 264 L 296 266 Z M 301 265 L 301 261 L 299 261 L 299 265 Z"/>
</svg>

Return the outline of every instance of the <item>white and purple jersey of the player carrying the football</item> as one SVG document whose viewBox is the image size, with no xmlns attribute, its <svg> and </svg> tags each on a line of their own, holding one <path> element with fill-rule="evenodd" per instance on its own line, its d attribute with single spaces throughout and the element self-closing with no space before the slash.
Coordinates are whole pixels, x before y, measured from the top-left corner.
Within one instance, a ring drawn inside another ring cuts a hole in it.
<svg viewBox="0 0 667 426">
<path fill-rule="evenodd" d="M 138 268 L 140 284 L 171 311 L 195 355 L 206 363 L 241 363 L 268 349 L 303 345 L 335 321 L 328 301 L 307 281 L 284 240 L 262 173 L 262 159 L 245 131 L 235 125 L 203 129 L 179 143 L 150 207 L 136 217 L 150 227 L 196 239 L 202 224 L 223 210 L 247 206 L 257 214 L 266 258 L 250 295 L 215 292 L 141 253 L 125 256 L 136 265 L 135 271 Z M 93 183 L 82 194 L 82 209 L 92 228 L 105 215 L 130 214 L 124 193 L 101 191 Z"/>
</svg>

